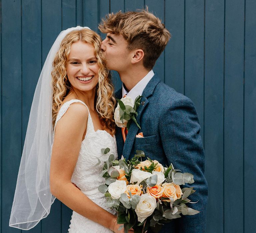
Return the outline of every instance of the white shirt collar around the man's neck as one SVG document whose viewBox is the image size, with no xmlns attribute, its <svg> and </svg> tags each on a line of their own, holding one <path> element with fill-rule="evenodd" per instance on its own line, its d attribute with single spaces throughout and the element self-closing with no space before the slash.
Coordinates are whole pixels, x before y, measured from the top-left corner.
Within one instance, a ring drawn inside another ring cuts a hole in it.
<svg viewBox="0 0 256 233">
<path fill-rule="evenodd" d="M 127 92 L 124 88 L 124 85 L 122 85 L 122 96 L 127 95 L 135 101 L 135 99 L 138 96 L 142 95 L 142 92 L 144 91 L 145 87 L 147 86 L 148 82 L 153 78 L 154 76 L 153 70 L 149 71 L 147 75 L 140 81 L 138 82 L 131 91 Z"/>
</svg>

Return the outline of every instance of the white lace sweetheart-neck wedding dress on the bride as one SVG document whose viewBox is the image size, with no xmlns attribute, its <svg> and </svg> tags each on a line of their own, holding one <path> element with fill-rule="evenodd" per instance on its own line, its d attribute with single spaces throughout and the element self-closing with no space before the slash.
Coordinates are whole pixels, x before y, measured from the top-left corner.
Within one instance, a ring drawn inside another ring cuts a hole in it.
<svg viewBox="0 0 256 233">
<path fill-rule="evenodd" d="M 59 110 L 58 116 L 56 118 L 56 123 L 65 114 L 69 106 L 72 103 L 77 102 L 85 105 L 80 100 L 71 100 L 64 103 Z M 109 147 L 110 153 L 114 154 L 115 158 L 117 158 L 115 136 L 112 137 L 105 130 L 95 131 L 89 112 L 86 135 L 81 144 L 81 149 L 71 181 L 75 183 L 77 187 L 79 187 L 81 191 L 97 205 L 101 206 L 102 208 L 106 209 L 111 213 L 114 213 L 114 210 L 106 208 L 106 199 L 104 197 L 104 194 L 98 191 L 99 185 L 103 184 L 105 179 L 101 177 L 102 164 L 96 166 L 96 164 L 98 163 L 97 158 L 99 158 L 101 161 L 105 161 L 107 159 L 108 156 L 101 153 L 101 149 L 106 147 Z M 83 217 L 75 211 L 73 211 L 69 227 L 69 233 L 112 232 L 111 230 L 101 226 L 100 224 Z"/>
</svg>

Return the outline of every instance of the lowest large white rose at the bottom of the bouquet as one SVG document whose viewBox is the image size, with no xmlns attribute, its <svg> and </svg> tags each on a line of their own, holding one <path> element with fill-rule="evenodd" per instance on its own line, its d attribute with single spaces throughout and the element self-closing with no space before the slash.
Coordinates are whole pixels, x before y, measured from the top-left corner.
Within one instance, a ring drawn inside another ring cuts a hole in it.
<svg viewBox="0 0 256 233">
<path fill-rule="evenodd" d="M 138 216 L 138 221 L 143 222 L 150 216 L 156 208 L 156 199 L 148 194 L 141 195 L 140 201 L 136 206 L 135 212 Z"/>
</svg>

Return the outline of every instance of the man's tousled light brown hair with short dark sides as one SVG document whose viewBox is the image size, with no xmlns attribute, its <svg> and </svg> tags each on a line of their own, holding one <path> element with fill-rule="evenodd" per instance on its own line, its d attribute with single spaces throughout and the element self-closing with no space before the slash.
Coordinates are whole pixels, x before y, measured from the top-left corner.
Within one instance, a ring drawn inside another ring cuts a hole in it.
<svg viewBox="0 0 256 233">
<path fill-rule="evenodd" d="M 102 19 L 99 29 L 102 33 L 123 35 L 129 51 L 142 49 L 143 66 L 148 70 L 153 68 L 171 38 L 165 25 L 148 11 L 148 7 L 139 11 L 108 14 Z"/>
</svg>

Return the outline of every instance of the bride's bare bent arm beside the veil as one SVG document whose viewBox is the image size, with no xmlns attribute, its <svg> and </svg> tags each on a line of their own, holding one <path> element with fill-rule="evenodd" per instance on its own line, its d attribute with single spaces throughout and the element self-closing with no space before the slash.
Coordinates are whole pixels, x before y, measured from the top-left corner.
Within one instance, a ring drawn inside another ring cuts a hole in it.
<svg viewBox="0 0 256 233">
<path fill-rule="evenodd" d="M 119 232 L 116 216 L 95 204 L 71 183 L 87 119 L 87 108 L 74 103 L 56 124 L 50 167 L 51 192 L 75 212 L 110 230 L 115 225 L 115 232 Z"/>
</svg>

